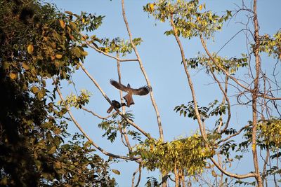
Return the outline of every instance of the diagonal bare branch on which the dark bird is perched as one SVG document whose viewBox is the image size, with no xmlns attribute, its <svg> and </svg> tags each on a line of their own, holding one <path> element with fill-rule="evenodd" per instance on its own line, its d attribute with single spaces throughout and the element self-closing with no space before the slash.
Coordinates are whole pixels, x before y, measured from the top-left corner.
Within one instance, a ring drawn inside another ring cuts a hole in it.
<svg viewBox="0 0 281 187">
<path fill-rule="evenodd" d="M 93 76 L 91 76 L 91 74 L 89 74 L 89 71 L 86 70 L 86 68 L 84 67 L 84 65 L 79 62 L 80 67 L 83 69 L 83 71 L 85 72 L 85 74 L 91 79 L 91 81 L 96 85 L 96 87 L 98 88 L 98 90 L 100 90 L 101 94 L 103 95 L 103 97 L 105 97 L 105 99 L 107 100 L 107 102 L 109 102 L 112 105 L 112 102 L 110 101 L 110 98 L 107 97 L 107 95 L 105 94 L 105 92 L 103 92 L 103 89 L 100 88 L 100 85 L 98 85 L 97 81 L 93 78 Z M 126 116 L 124 116 L 123 113 L 121 113 L 118 109 L 115 109 L 120 116 L 122 116 L 124 118 L 124 120 L 126 120 L 126 122 L 128 122 L 129 124 L 131 124 L 133 127 L 135 127 L 137 130 L 139 130 L 143 135 L 145 135 L 145 137 L 148 137 L 149 139 L 151 138 L 150 135 L 148 133 L 146 133 L 144 130 L 141 129 L 141 127 L 138 127 L 138 125 L 136 125 L 136 123 L 133 123 L 132 120 L 129 120 L 128 118 L 126 118 Z"/>
</svg>

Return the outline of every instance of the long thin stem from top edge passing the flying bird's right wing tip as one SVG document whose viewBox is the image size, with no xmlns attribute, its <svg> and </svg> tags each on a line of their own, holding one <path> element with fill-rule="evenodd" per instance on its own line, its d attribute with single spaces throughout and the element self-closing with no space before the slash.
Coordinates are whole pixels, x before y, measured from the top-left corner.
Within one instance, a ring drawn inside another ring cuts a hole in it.
<svg viewBox="0 0 281 187">
<path fill-rule="evenodd" d="M 138 64 L 139 64 L 139 66 L 141 68 L 141 71 L 143 72 L 143 76 L 145 77 L 145 81 L 148 84 L 148 88 L 150 88 L 150 99 L 151 99 L 152 105 L 153 105 L 153 107 L 155 109 L 156 116 L 157 116 L 157 122 L 158 122 L 158 128 L 159 128 L 159 137 L 160 137 L 160 139 L 164 140 L 164 135 L 163 135 L 163 129 L 162 129 L 162 123 L 161 123 L 160 114 L 159 114 L 159 111 L 158 111 L 157 104 L 155 102 L 155 98 L 154 98 L 154 95 L 153 95 L 153 91 L 152 91 L 152 86 L 151 86 L 150 80 L 148 79 L 148 75 L 146 74 L 145 68 L 143 67 L 143 62 L 141 60 L 140 55 L 138 54 L 138 50 L 137 50 L 135 44 L 133 43 L 133 37 L 131 35 L 129 24 L 128 24 L 128 21 L 126 19 L 124 0 L 122 0 L 122 15 L 123 15 L 123 19 L 124 19 L 124 22 L 125 22 L 125 25 L 126 25 L 127 32 L 129 34 L 131 45 L 132 45 L 133 50 L 134 50 L 134 52 L 136 54 L 136 57 L 138 58 Z"/>
</svg>

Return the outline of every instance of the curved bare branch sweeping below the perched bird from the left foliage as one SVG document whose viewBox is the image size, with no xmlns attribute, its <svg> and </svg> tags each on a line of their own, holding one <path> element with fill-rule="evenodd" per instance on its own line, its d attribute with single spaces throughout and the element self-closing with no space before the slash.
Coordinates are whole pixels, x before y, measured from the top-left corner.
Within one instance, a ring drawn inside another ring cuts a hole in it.
<svg viewBox="0 0 281 187">
<path fill-rule="evenodd" d="M 124 160 L 138 160 L 138 158 L 133 158 L 133 157 L 127 157 L 127 156 L 122 156 L 122 155 L 115 155 L 112 153 L 109 153 L 107 151 L 105 151 L 103 148 L 101 148 L 100 146 L 98 146 L 98 144 L 96 144 L 89 136 L 88 134 L 86 134 L 86 132 L 82 129 L 81 125 L 79 125 L 79 123 L 77 122 L 77 120 L 74 118 L 74 116 L 72 115 L 72 112 L 70 111 L 70 109 L 68 108 L 68 106 L 65 104 L 65 100 L 63 99 L 63 95 L 60 92 L 60 89 L 58 88 L 58 85 L 56 83 L 55 78 L 53 78 L 53 82 L 55 83 L 55 87 L 56 90 L 58 92 L 58 95 L 60 96 L 61 101 L 63 102 L 63 104 L 65 105 L 65 109 L 67 109 L 67 113 L 70 115 L 71 120 L 73 121 L 73 123 L 77 126 L 77 128 L 80 130 L 80 132 L 84 135 L 84 137 L 86 137 L 86 139 L 89 140 L 89 142 L 96 147 L 100 152 L 102 152 L 105 155 L 108 156 L 112 156 L 114 158 L 121 158 Z"/>
</svg>

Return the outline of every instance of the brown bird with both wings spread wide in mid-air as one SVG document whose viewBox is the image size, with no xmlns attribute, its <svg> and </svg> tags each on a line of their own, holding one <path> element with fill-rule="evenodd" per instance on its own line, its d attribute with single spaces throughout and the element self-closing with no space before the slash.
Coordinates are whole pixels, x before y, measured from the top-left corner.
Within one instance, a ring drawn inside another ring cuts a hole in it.
<svg viewBox="0 0 281 187">
<path fill-rule="evenodd" d="M 132 95 L 147 95 L 150 92 L 150 88 L 148 86 L 143 86 L 138 89 L 131 88 L 130 84 L 127 86 L 122 85 L 121 83 L 118 83 L 117 81 L 114 81 L 113 79 L 110 80 L 110 83 L 117 89 L 122 90 L 123 92 L 127 92 L 128 94 L 125 95 L 123 98 L 126 100 L 126 104 L 128 107 L 130 107 L 131 104 L 135 104 L 133 102 Z"/>
</svg>

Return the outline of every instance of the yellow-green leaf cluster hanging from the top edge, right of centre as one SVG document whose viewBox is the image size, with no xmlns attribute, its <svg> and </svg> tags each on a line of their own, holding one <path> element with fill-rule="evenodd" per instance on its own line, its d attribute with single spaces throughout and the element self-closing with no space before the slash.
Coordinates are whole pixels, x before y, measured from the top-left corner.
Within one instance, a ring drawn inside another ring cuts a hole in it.
<svg viewBox="0 0 281 187">
<path fill-rule="evenodd" d="M 206 6 L 199 4 L 198 0 L 159 0 L 147 4 L 143 10 L 161 22 L 171 20 L 173 17 L 172 21 L 176 25 L 178 36 L 188 39 L 201 35 L 209 38 L 214 32 L 221 29 L 223 22 L 232 16 L 231 11 L 227 11 L 226 15 L 218 16 L 211 11 L 202 11 L 202 8 L 206 8 Z M 174 34 L 174 31 L 169 30 L 165 34 L 171 35 Z"/>
</svg>

